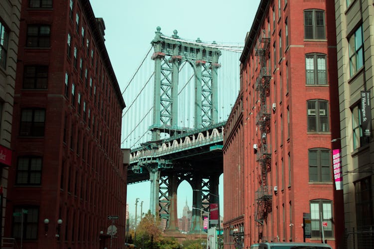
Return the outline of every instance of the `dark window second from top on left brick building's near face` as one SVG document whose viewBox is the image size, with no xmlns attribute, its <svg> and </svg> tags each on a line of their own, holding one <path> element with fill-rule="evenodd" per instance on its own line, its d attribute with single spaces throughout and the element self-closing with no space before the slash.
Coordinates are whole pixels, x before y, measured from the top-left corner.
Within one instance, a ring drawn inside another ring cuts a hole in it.
<svg viewBox="0 0 374 249">
<path fill-rule="evenodd" d="M 27 47 L 49 47 L 51 27 L 45 24 L 27 26 Z"/>
</svg>

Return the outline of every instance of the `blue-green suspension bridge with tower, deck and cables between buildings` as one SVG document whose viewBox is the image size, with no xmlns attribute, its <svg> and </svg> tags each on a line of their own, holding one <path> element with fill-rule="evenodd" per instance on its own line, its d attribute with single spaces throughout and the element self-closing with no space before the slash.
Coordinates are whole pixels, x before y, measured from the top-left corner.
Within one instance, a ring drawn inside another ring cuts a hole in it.
<svg viewBox="0 0 374 249">
<path fill-rule="evenodd" d="M 218 203 L 223 127 L 240 88 L 239 44 L 187 40 L 157 27 L 151 47 L 123 91 L 122 148 L 128 184 L 150 181 L 150 210 L 178 231 L 177 189 L 187 181 L 192 207 Z M 200 231 L 192 209 L 191 232 Z"/>
</svg>

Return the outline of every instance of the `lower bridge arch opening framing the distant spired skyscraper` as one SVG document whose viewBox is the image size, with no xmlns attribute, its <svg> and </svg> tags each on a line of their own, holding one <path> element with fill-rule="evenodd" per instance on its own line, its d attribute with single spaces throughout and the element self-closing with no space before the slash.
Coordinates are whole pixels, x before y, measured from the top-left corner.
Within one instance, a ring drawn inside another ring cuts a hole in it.
<svg viewBox="0 0 374 249">
<path fill-rule="evenodd" d="M 187 233 L 191 228 L 192 221 L 192 187 L 186 180 L 178 186 L 177 197 L 179 230 Z"/>
</svg>

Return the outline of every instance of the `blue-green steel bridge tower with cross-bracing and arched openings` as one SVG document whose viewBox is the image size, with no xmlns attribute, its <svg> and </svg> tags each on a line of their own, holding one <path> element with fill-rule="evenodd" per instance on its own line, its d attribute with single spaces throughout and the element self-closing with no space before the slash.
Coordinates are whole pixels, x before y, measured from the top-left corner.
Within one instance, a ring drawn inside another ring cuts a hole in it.
<svg viewBox="0 0 374 249">
<path fill-rule="evenodd" d="M 172 37 L 161 33 L 157 27 L 156 36 L 151 44 L 154 48 L 152 59 L 155 60 L 154 82 L 154 115 L 152 141 L 145 143 L 149 149 L 157 148 L 161 132 L 170 136 L 184 132 L 178 127 L 178 84 L 179 71 L 182 63 L 187 61 L 194 74 L 194 124 L 193 128 L 204 128 L 218 123 L 217 69 L 220 67 L 218 58 L 221 55 L 215 42 L 202 43 L 199 38 L 195 42 L 181 40 L 177 30 Z M 149 171 L 151 181 L 150 207 L 151 213 L 160 213 L 167 220 L 167 231 L 178 231 L 177 189 L 186 180 L 192 187 L 192 207 L 208 211 L 209 203 L 218 203 L 217 172 L 180 172 L 175 169 L 171 160 L 148 159 L 141 166 Z M 209 174 L 210 173 L 210 174 Z M 211 195 L 210 195 L 211 194 Z M 192 209 L 191 232 L 200 231 L 200 212 Z"/>
</svg>

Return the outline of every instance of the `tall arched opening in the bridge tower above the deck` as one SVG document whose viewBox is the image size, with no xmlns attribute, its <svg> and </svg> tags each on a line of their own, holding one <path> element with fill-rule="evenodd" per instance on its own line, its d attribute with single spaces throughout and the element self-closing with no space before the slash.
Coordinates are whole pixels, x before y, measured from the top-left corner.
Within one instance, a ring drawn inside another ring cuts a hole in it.
<svg viewBox="0 0 374 249">
<path fill-rule="evenodd" d="M 188 60 L 181 62 L 178 73 L 178 126 L 183 130 L 194 128 L 195 69 Z"/>
</svg>

